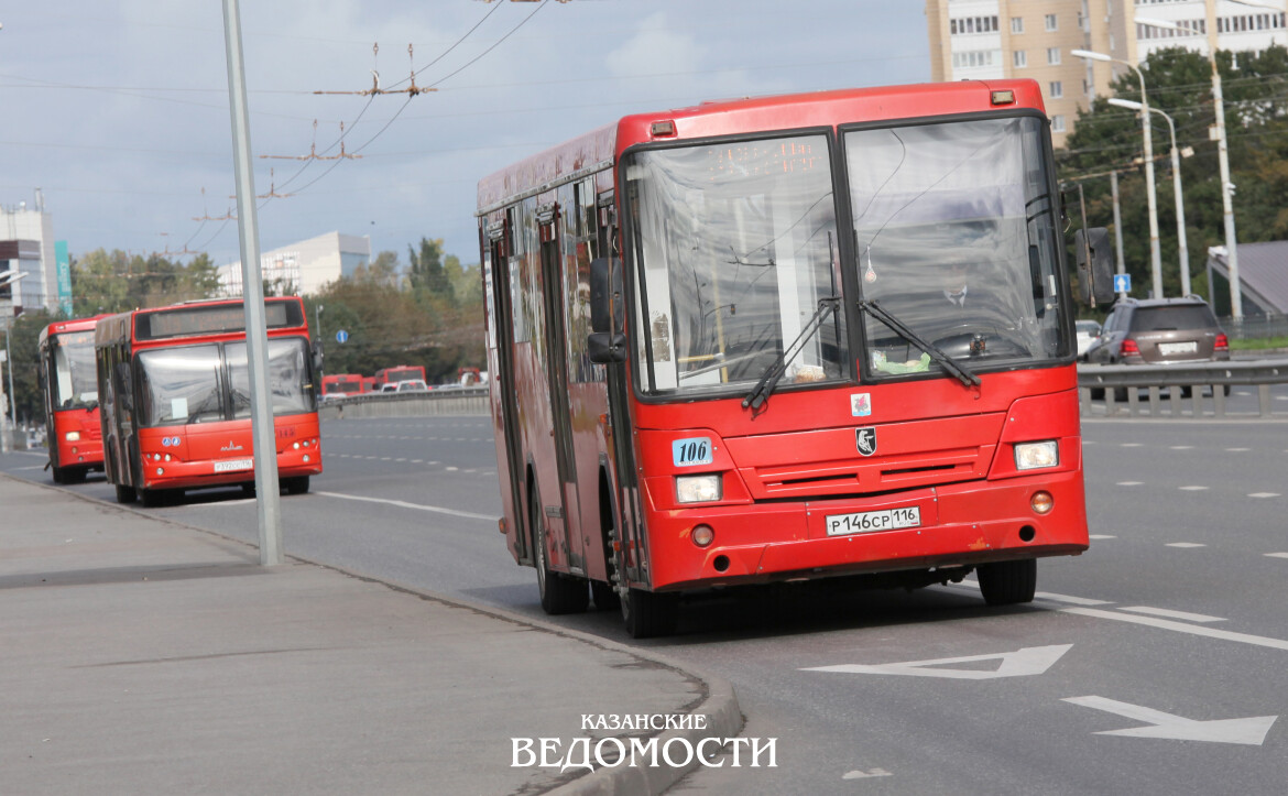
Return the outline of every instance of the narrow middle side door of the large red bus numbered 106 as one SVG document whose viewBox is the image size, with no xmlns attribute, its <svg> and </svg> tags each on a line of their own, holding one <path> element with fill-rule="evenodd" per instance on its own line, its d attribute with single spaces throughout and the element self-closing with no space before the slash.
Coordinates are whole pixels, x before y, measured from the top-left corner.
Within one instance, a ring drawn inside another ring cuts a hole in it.
<svg viewBox="0 0 1288 796">
<path fill-rule="evenodd" d="M 559 470 L 559 498 L 553 506 L 542 506 L 546 514 L 546 528 L 553 538 L 564 541 L 568 565 L 573 572 L 585 573 L 585 549 L 580 516 L 568 516 L 569 510 L 578 511 L 581 505 L 577 492 L 577 468 L 572 444 L 572 410 L 568 399 L 568 346 L 567 326 L 564 325 L 563 268 L 559 258 L 559 237 L 555 234 L 556 205 L 537 209 L 537 227 L 541 231 L 541 300 L 546 321 L 546 384 L 550 390 L 551 442 L 555 448 L 555 464 Z M 545 500 L 545 498 L 544 498 Z"/>
</svg>

